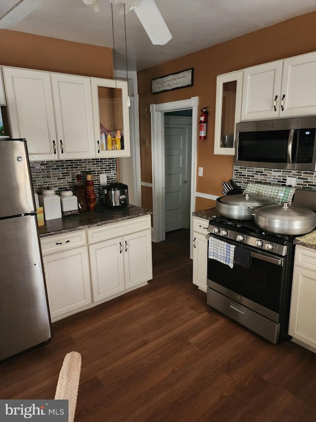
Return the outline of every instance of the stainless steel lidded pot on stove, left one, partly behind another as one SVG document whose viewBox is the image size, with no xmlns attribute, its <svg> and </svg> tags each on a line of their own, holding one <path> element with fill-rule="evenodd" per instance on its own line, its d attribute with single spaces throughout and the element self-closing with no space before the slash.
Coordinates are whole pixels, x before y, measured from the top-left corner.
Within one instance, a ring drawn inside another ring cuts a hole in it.
<svg viewBox="0 0 316 422">
<path fill-rule="evenodd" d="M 274 199 L 270 196 L 242 193 L 217 198 L 216 209 L 220 215 L 234 220 L 253 220 L 255 210 L 274 202 Z"/>
</svg>

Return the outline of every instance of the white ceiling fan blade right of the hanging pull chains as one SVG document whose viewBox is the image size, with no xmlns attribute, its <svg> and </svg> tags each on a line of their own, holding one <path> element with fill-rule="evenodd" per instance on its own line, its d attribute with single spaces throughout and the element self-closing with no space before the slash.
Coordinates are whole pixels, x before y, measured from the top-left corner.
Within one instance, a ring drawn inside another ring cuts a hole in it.
<svg viewBox="0 0 316 422">
<path fill-rule="evenodd" d="M 142 0 L 134 11 L 154 45 L 163 46 L 172 35 L 154 0 Z"/>
</svg>

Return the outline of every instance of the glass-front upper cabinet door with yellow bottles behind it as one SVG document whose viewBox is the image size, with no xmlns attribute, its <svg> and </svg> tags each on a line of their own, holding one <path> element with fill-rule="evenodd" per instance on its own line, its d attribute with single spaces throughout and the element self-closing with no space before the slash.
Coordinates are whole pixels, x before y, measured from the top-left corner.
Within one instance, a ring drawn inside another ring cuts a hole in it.
<svg viewBox="0 0 316 422">
<path fill-rule="evenodd" d="M 98 157 L 129 157 L 127 82 L 91 78 L 93 126 Z"/>
</svg>

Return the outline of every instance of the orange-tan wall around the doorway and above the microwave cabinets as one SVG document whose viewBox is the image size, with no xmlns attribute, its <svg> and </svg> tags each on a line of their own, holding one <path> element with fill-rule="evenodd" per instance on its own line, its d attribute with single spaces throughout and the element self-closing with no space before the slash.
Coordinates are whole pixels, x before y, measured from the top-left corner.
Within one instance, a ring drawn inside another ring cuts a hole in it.
<svg viewBox="0 0 316 422">
<path fill-rule="evenodd" d="M 172 30 L 171 30 L 172 32 Z M 209 47 L 193 54 L 171 60 L 138 72 L 139 104 L 141 109 L 159 104 L 199 97 L 199 108 L 209 106 L 207 139 L 197 141 L 197 166 L 203 167 L 203 177 L 197 177 L 197 191 L 222 195 L 221 182 L 233 174 L 233 157 L 214 155 L 214 122 L 216 76 L 285 57 L 316 50 L 316 12 L 281 22 L 234 40 Z M 170 92 L 151 94 L 151 80 L 194 68 L 193 87 Z M 149 147 L 141 148 L 141 176 L 143 182 L 151 182 L 151 129 L 150 116 L 140 119 L 140 140 L 147 138 Z M 148 192 L 147 192 L 148 195 Z M 197 209 L 210 201 L 197 200 Z"/>
</svg>

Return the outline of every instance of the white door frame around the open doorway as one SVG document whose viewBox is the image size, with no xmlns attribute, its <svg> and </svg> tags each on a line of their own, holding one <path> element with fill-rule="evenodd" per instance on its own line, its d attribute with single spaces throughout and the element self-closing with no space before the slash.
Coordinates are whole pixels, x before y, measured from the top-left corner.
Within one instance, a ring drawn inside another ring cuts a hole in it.
<svg viewBox="0 0 316 422">
<path fill-rule="evenodd" d="M 190 213 L 195 211 L 197 184 L 197 113 L 198 96 L 189 99 L 151 104 L 152 173 L 153 173 L 153 241 L 165 240 L 164 224 L 164 113 L 192 109 L 191 200 Z M 190 224 L 190 244 L 193 225 Z M 191 256 L 191 252 L 190 252 Z"/>
</svg>

